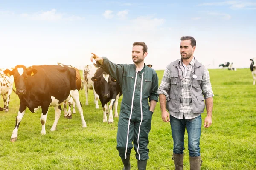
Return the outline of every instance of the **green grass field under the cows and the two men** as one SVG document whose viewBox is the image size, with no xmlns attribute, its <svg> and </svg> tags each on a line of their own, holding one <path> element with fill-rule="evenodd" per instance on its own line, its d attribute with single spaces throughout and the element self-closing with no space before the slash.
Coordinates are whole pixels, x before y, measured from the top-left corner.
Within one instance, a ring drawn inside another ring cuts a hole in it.
<svg viewBox="0 0 256 170">
<path fill-rule="evenodd" d="M 209 70 L 214 96 L 212 126 L 202 127 L 202 170 L 256 170 L 256 86 L 250 69 Z M 159 84 L 163 71 L 157 71 Z M 84 90 L 80 91 L 87 128 L 82 128 L 77 113 L 68 120 L 61 113 L 57 129 L 50 132 L 54 108 L 49 109 L 47 134 L 41 136 L 40 111 L 27 109 L 19 127 L 18 139 L 10 142 L 19 99 L 12 93 L 9 112 L 0 112 L 0 170 L 122 170 L 116 150 L 118 118 L 113 124 L 103 123 L 103 113 L 95 109 L 93 91 L 85 106 Z M 122 99 L 122 98 L 121 98 Z M 119 110 L 120 110 L 119 101 Z M 3 106 L 3 99 L 0 101 Z M 206 111 L 202 114 L 202 119 Z M 149 133 L 150 150 L 147 170 L 174 170 L 171 159 L 173 141 L 169 123 L 161 119 L 160 105 L 153 114 Z M 189 170 L 187 135 L 185 136 L 184 169 Z M 131 169 L 137 169 L 135 152 L 131 152 Z"/>
</svg>

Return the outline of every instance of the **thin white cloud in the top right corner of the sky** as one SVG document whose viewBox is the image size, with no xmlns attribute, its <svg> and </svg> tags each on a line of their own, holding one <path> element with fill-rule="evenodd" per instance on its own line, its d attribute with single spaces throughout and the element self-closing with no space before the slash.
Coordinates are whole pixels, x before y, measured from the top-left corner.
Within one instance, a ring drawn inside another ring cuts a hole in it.
<svg viewBox="0 0 256 170">
<path fill-rule="evenodd" d="M 216 3 L 202 3 L 198 6 L 229 6 L 231 9 L 245 9 L 247 7 L 255 7 L 256 3 L 250 1 L 230 0 Z"/>
</svg>

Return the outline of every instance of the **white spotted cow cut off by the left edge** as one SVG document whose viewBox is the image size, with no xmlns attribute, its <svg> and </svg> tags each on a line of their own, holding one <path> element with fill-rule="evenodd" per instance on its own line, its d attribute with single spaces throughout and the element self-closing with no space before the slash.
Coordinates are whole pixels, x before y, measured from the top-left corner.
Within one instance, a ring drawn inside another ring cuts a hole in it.
<svg viewBox="0 0 256 170">
<path fill-rule="evenodd" d="M 3 108 L 0 107 L 0 111 L 9 111 L 10 96 L 12 93 L 13 76 L 6 76 L 4 69 L 0 68 L 0 94 L 3 97 Z"/>
</svg>

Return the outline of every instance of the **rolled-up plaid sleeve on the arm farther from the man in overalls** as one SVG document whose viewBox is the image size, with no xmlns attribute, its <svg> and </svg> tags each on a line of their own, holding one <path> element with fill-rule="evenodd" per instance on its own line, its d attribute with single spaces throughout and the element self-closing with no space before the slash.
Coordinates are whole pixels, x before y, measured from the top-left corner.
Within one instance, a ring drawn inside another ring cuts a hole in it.
<svg viewBox="0 0 256 170">
<path fill-rule="evenodd" d="M 209 97 L 213 97 L 213 91 L 212 91 L 212 85 L 210 82 L 210 74 L 207 68 L 204 69 L 203 78 L 201 81 L 201 88 L 203 91 L 204 99 L 207 99 Z"/>
</svg>

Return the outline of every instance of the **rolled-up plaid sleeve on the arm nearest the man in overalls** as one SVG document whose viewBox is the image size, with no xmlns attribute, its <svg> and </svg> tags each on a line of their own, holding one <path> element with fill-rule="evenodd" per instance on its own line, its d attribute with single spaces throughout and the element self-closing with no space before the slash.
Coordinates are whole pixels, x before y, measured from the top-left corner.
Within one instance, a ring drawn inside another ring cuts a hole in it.
<svg viewBox="0 0 256 170">
<path fill-rule="evenodd" d="M 157 89 L 157 93 L 164 94 L 166 96 L 167 101 L 170 100 L 170 97 L 168 95 L 168 91 L 170 88 L 170 82 L 171 82 L 170 70 L 169 70 L 169 65 L 167 65 L 167 67 L 163 73 L 163 78 L 162 78 L 161 84 L 160 84 L 159 88 Z"/>
</svg>

